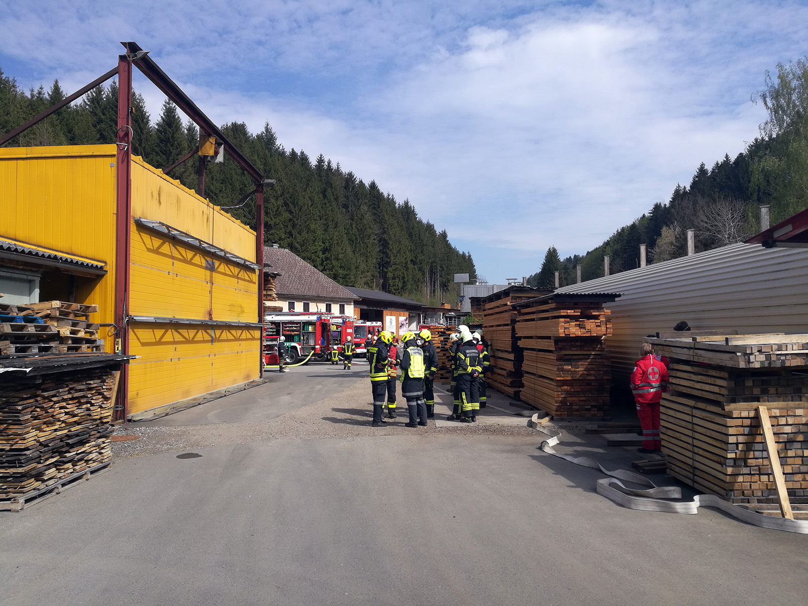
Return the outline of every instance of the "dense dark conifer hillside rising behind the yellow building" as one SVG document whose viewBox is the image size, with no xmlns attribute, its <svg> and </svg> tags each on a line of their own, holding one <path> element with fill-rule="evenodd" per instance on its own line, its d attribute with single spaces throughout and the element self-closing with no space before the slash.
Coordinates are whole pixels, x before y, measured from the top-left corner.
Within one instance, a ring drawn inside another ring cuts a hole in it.
<svg viewBox="0 0 808 606">
<path fill-rule="evenodd" d="M 40 86 L 26 93 L 0 71 L 0 134 L 65 96 L 58 81 L 50 90 Z M 169 101 L 154 124 L 137 93 L 133 112 L 133 152 L 152 166 L 166 168 L 198 145 L 196 126 L 183 124 Z M 91 90 L 6 146 L 114 143 L 116 115 L 113 82 Z M 312 161 L 302 150 L 287 151 L 269 124 L 256 134 L 238 122 L 221 129 L 267 179 L 277 181 L 264 196 L 267 244 L 278 242 L 339 284 L 381 289 L 432 305 L 457 303 L 453 274 L 476 276 L 470 253 L 452 246 L 445 230 L 423 221 L 409 200 L 398 203 L 374 181 L 364 183 L 322 155 Z M 196 188 L 196 159 L 170 176 Z M 205 196 L 223 207 L 237 204 L 254 187 L 234 162 L 208 165 L 205 179 Z M 229 213 L 255 228 L 255 196 Z"/>
</svg>

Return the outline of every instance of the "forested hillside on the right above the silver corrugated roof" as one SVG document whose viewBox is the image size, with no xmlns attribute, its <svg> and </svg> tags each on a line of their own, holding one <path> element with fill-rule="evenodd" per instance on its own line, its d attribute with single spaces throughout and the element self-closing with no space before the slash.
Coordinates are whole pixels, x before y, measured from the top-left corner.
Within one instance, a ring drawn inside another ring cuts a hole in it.
<svg viewBox="0 0 808 606">
<path fill-rule="evenodd" d="M 561 284 L 573 284 L 575 265 L 583 280 L 604 275 L 604 255 L 610 273 L 639 267 L 639 246 L 648 246 L 648 263 L 687 254 L 687 230 L 695 229 L 696 252 L 725 246 L 760 231 L 760 204 L 771 205 L 772 225 L 808 208 L 808 58 L 778 64 L 766 74 L 764 90 L 753 96 L 768 111 L 756 137 L 743 153 L 696 169 L 688 185 L 677 184 L 667 202 L 625 225 L 586 255 L 559 259 L 550 246 L 540 271 L 528 284 L 553 287 L 554 272 Z"/>
</svg>

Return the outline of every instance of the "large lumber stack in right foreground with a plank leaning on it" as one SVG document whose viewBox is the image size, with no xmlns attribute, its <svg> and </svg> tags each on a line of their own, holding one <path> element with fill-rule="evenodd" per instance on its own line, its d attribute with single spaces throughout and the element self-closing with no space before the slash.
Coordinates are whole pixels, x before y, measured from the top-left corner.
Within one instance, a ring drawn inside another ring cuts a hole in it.
<svg viewBox="0 0 808 606">
<path fill-rule="evenodd" d="M 667 356 L 661 405 L 668 473 L 732 503 L 777 503 L 765 406 L 791 503 L 808 503 L 808 335 L 646 339 Z"/>
</svg>

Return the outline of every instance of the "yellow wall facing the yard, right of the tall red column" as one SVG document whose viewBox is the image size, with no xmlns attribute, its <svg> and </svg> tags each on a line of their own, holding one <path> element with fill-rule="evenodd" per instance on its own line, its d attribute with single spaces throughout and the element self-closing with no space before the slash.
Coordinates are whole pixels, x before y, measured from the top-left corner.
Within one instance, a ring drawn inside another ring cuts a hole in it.
<svg viewBox="0 0 808 606">
<path fill-rule="evenodd" d="M 255 232 L 140 158 L 132 214 L 255 259 Z M 129 314 L 257 322 L 257 271 L 131 226 Z M 260 347 L 259 328 L 130 322 L 129 353 L 141 357 L 129 365 L 128 413 L 255 379 Z"/>
</svg>

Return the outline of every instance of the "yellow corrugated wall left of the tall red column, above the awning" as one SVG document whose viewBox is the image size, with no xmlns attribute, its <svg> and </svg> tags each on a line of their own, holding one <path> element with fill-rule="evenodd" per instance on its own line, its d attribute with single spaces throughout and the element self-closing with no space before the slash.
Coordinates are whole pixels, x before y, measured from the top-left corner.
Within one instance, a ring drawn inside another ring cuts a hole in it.
<svg viewBox="0 0 808 606">
<path fill-rule="evenodd" d="M 92 322 L 114 321 L 115 162 L 115 145 L 0 148 L 0 238 L 106 263 L 106 276 L 76 289 L 79 303 L 99 305 Z"/>
</svg>

